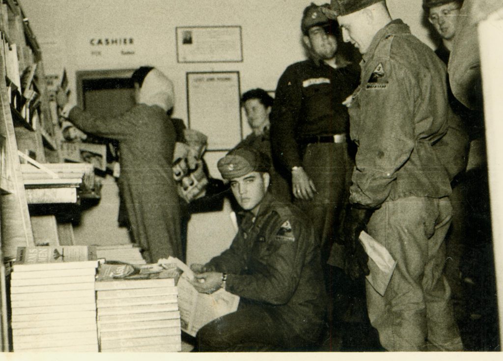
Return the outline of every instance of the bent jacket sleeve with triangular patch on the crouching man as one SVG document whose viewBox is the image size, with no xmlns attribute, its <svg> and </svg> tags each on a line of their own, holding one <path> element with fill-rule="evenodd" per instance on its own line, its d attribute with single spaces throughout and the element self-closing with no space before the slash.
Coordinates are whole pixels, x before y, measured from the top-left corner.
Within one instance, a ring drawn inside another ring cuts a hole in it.
<svg viewBox="0 0 503 361">
<path fill-rule="evenodd" d="M 268 255 L 264 263 L 249 275 L 230 274 L 226 290 L 246 299 L 274 305 L 288 303 L 300 280 L 309 229 L 287 220 L 279 220 L 268 230 Z"/>
</svg>

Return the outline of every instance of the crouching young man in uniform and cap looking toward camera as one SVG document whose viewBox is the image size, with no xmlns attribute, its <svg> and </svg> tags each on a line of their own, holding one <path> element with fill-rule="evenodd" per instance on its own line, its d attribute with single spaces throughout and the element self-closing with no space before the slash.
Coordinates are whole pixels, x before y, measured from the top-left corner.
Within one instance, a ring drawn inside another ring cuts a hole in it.
<svg viewBox="0 0 503 361">
<path fill-rule="evenodd" d="M 205 265 L 192 264 L 193 285 L 201 293 L 224 288 L 240 303 L 199 330 L 199 351 L 312 349 L 326 294 L 310 221 L 267 192 L 270 160 L 260 151 L 232 150 L 218 169 L 246 214 L 229 249 Z"/>
</svg>

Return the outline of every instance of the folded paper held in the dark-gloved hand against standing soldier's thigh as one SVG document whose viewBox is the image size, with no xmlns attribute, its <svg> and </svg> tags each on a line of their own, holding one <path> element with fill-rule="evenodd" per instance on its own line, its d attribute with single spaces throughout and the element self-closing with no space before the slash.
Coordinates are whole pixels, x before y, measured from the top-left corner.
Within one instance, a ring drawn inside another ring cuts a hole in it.
<svg viewBox="0 0 503 361">
<path fill-rule="evenodd" d="M 370 273 L 366 276 L 366 279 L 381 296 L 384 296 L 395 270 L 396 261 L 386 247 L 377 242 L 367 232 L 362 231 L 360 233 L 360 242 L 369 256 L 367 265 L 369 266 Z M 343 250 L 343 245 L 334 243 L 328 263 L 344 268 Z"/>
</svg>

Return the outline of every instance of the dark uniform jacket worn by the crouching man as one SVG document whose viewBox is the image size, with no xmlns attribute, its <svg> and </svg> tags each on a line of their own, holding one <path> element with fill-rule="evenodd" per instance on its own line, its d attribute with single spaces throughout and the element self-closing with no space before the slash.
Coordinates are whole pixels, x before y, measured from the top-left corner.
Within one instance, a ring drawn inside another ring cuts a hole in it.
<svg viewBox="0 0 503 361">
<path fill-rule="evenodd" d="M 247 212 L 230 247 L 206 266 L 228 273 L 227 291 L 273 306 L 281 322 L 309 338 L 323 323 L 326 294 L 319 244 L 305 219 L 267 194 L 256 219 Z"/>
</svg>

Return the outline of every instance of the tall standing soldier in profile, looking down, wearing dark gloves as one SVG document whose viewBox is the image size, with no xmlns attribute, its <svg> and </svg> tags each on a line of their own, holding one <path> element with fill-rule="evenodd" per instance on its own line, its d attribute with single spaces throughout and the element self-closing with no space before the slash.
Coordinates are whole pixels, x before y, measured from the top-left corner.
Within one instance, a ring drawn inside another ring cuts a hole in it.
<svg viewBox="0 0 503 361">
<path fill-rule="evenodd" d="M 363 56 L 360 86 L 346 102 L 358 146 L 344 225 L 346 270 L 353 277 L 369 272 L 358 241 L 367 227 L 397 262 L 384 296 L 366 284 L 382 346 L 462 350 L 443 275 L 450 174 L 434 149 L 449 128 L 445 66 L 391 19 L 384 0 L 332 0 L 325 14 Z"/>
</svg>

